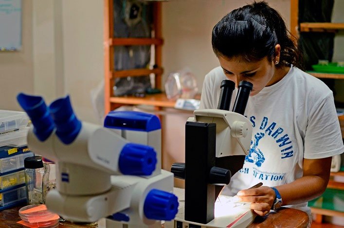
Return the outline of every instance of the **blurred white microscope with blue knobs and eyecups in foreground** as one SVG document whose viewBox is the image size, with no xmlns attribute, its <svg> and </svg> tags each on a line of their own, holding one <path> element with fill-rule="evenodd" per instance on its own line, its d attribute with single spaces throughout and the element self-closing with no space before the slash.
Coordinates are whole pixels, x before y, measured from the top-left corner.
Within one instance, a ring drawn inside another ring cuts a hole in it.
<svg viewBox="0 0 344 228">
<path fill-rule="evenodd" d="M 171 194 L 173 174 L 160 168 L 156 116 L 114 112 L 104 128 L 79 121 L 68 96 L 54 101 L 50 114 L 43 98 L 17 99 L 33 123 L 29 147 L 56 163 L 56 189 L 46 196 L 50 211 L 74 222 L 107 217 L 109 227 L 150 228 L 174 218 L 178 199 Z"/>
</svg>

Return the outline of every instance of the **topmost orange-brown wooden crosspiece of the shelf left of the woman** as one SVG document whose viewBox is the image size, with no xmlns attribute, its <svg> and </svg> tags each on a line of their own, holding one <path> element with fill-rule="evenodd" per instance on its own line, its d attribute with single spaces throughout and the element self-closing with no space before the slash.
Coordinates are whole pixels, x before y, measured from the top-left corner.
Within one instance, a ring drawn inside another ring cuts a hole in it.
<svg viewBox="0 0 344 228">
<path fill-rule="evenodd" d="M 163 45 L 163 39 L 156 38 L 110 38 L 111 46 Z"/>
</svg>

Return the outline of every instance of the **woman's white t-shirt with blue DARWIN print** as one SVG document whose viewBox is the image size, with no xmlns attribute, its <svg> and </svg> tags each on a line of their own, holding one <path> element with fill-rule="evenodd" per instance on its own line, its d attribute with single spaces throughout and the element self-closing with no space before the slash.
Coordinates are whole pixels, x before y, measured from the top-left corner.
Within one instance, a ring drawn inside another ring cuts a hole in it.
<svg viewBox="0 0 344 228">
<path fill-rule="evenodd" d="M 225 79 L 221 67 L 205 76 L 200 109 L 217 108 Z M 237 89 L 230 110 L 236 93 Z M 326 158 L 344 151 L 332 91 L 297 67 L 291 66 L 281 81 L 250 97 L 245 116 L 253 126 L 251 149 L 243 168 L 221 194 L 235 195 L 258 182 L 271 187 L 290 183 L 302 177 L 304 158 Z M 310 213 L 307 203 L 290 207 Z"/>
</svg>

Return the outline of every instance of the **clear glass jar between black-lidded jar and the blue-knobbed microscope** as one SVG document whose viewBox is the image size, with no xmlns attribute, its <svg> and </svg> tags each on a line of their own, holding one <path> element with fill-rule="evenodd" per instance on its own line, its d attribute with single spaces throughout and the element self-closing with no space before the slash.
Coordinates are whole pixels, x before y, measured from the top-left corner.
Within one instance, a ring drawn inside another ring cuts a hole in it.
<svg viewBox="0 0 344 228">
<path fill-rule="evenodd" d="M 56 164 L 43 158 L 44 175 L 42 182 L 43 203 L 45 203 L 48 192 L 56 188 Z"/>
</svg>

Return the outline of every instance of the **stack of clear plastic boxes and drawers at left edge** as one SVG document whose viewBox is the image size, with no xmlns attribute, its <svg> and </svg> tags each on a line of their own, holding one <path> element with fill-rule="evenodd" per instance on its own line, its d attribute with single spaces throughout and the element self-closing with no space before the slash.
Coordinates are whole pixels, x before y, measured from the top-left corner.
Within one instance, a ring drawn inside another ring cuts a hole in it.
<svg viewBox="0 0 344 228">
<path fill-rule="evenodd" d="M 28 123 L 24 112 L 0 110 L 0 211 L 26 202 L 24 159 L 34 155 Z"/>
</svg>

